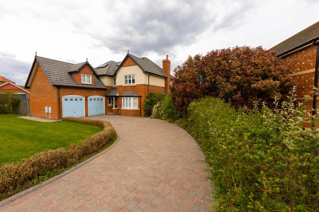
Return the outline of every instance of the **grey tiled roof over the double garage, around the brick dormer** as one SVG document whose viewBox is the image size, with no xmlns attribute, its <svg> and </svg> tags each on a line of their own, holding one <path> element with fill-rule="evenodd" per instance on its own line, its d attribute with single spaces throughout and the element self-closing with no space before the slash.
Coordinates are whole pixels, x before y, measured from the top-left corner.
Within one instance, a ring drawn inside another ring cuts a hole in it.
<svg viewBox="0 0 319 212">
<path fill-rule="evenodd" d="M 94 85 L 88 85 L 88 84 L 78 85 L 78 83 L 69 73 L 69 70 L 70 69 L 74 70 L 76 67 L 78 67 L 79 64 L 83 65 L 84 63 L 72 64 L 72 63 L 63 62 L 59 60 L 43 58 L 39 56 L 36 56 L 35 59 L 39 62 L 40 66 L 42 67 L 43 71 L 47 75 L 52 85 L 62 86 L 62 87 L 106 89 L 106 86 L 103 84 L 100 78 L 97 77 L 95 74 L 93 74 Z M 31 72 L 32 72 L 32 69 L 31 69 Z M 29 81 L 29 78 L 30 78 L 30 74 L 27 79 L 27 82 Z"/>
</svg>

